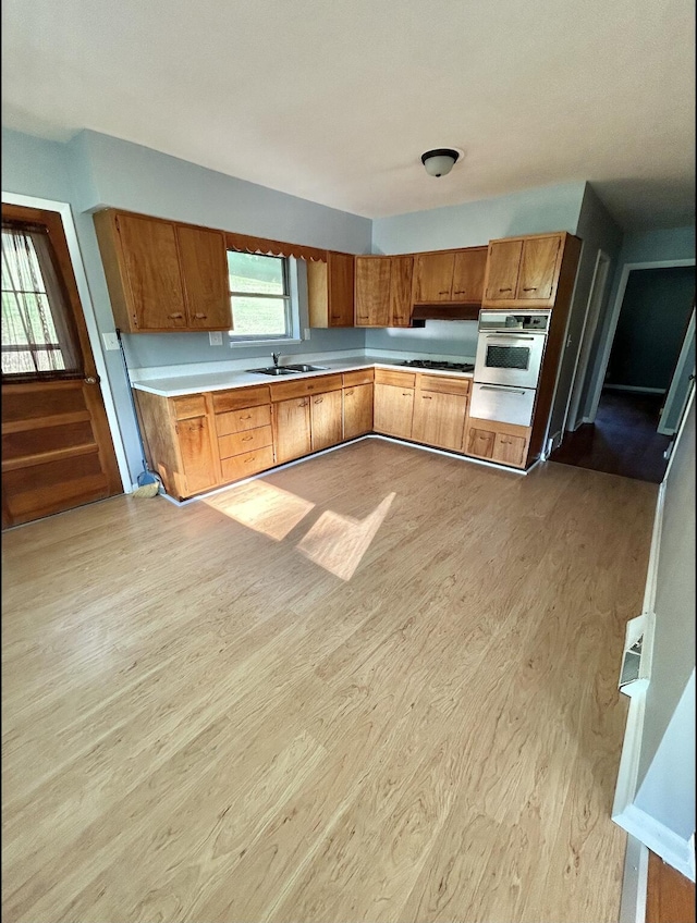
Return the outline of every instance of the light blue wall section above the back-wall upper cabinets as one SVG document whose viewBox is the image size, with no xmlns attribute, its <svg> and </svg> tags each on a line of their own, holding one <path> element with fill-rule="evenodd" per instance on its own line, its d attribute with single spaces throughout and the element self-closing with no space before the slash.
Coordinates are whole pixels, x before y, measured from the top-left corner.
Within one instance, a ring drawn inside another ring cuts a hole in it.
<svg viewBox="0 0 697 923">
<path fill-rule="evenodd" d="M 408 254 L 477 247 L 498 237 L 546 231 L 575 234 L 585 186 L 585 182 L 564 183 L 430 211 L 378 218 L 372 222 L 372 251 Z"/>
</svg>

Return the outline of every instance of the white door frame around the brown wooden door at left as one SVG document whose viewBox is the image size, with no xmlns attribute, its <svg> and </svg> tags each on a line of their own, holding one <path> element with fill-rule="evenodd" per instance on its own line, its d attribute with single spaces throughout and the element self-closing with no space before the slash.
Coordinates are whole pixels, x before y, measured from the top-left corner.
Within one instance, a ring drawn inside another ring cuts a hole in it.
<svg viewBox="0 0 697 923">
<path fill-rule="evenodd" d="M 109 431 L 113 441 L 113 451 L 117 456 L 117 465 L 119 467 L 121 484 L 123 487 L 124 493 L 131 493 L 133 490 L 133 483 L 131 481 L 131 475 L 129 472 L 125 446 L 123 444 L 121 430 L 119 428 L 117 405 L 113 399 L 113 394 L 111 393 L 109 373 L 107 371 L 107 362 L 105 360 L 101 337 L 99 335 L 99 328 L 97 327 L 95 306 L 91 300 L 89 284 L 87 282 L 87 275 L 85 273 L 85 267 L 80 250 L 77 231 L 75 230 L 75 221 L 73 219 L 71 205 L 70 202 L 52 201 L 50 199 L 37 198 L 36 196 L 22 196 L 17 195 L 16 193 L 7 193 L 4 190 L 2 190 L 1 196 L 2 201 L 7 202 L 8 205 L 20 205 L 24 206 L 25 208 L 40 208 L 45 209 L 46 211 L 57 211 L 61 216 L 61 220 L 63 222 L 63 230 L 65 232 L 65 239 L 68 242 L 68 250 L 70 253 L 70 259 L 73 264 L 73 272 L 75 273 L 77 294 L 80 295 L 80 301 L 82 305 L 83 315 L 85 317 L 85 324 L 87 327 L 89 345 L 91 347 L 93 356 L 95 358 L 97 374 L 99 376 L 99 390 L 101 391 L 105 410 L 107 411 L 107 422 L 109 423 Z"/>
</svg>

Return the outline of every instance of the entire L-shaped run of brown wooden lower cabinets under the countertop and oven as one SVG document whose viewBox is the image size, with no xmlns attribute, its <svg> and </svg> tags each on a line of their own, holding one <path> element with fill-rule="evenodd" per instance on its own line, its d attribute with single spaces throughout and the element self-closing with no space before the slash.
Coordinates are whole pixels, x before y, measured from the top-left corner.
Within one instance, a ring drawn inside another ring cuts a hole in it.
<svg viewBox="0 0 697 923">
<path fill-rule="evenodd" d="M 370 432 L 524 468 L 530 429 L 467 417 L 469 387 L 362 369 L 181 397 L 134 393 L 148 464 L 184 500 Z"/>
</svg>

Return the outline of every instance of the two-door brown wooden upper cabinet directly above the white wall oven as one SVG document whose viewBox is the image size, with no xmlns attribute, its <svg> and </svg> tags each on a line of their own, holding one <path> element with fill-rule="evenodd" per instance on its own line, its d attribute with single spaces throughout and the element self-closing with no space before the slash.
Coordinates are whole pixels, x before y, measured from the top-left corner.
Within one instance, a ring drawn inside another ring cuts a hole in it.
<svg viewBox="0 0 697 923">
<path fill-rule="evenodd" d="M 489 308 L 551 308 L 568 235 L 536 234 L 491 241 L 484 305 Z"/>
</svg>

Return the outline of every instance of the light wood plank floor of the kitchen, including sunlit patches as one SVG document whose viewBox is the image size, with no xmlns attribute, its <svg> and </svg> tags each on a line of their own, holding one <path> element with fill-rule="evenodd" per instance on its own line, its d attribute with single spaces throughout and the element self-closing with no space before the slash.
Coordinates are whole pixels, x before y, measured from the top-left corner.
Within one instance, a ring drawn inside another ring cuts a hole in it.
<svg viewBox="0 0 697 923">
<path fill-rule="evenodd" d="M 3 536 L 3 921 L 615 921 L 653 484 L 369 440 Z"/>
</svg>

